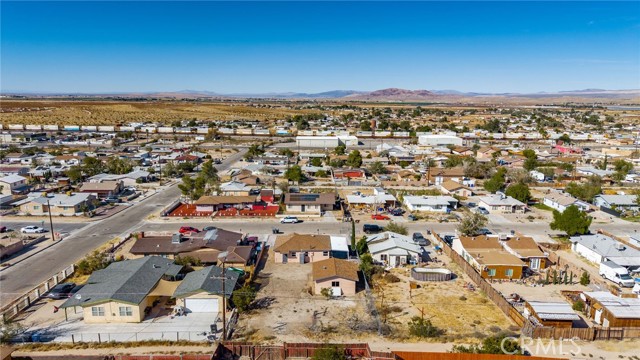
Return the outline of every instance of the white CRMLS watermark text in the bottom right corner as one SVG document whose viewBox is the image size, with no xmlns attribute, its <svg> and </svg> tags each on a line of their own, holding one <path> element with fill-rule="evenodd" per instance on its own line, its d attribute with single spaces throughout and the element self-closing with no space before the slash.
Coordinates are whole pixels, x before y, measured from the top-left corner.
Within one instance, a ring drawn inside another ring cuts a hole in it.
<svg viewBox="0 0 640 360">
<path fill-rule="evenodd" d="M 580 345 L 576 341 L 580 340 L 577 337 L 570 339 L 560 338 L 554 339 L 534 339 L 528 336 L 508 336 L 502 339 L 500 342 L 500 350 L 507 355 L 515 355 L 518 353 L 517 349 L 510 344 L 516 343 L 520 345 L 522 352 L 530 355 L 572 355 L 580 354 L 582 352 Z"/>
</svg>

